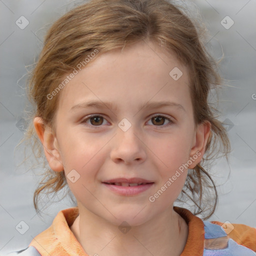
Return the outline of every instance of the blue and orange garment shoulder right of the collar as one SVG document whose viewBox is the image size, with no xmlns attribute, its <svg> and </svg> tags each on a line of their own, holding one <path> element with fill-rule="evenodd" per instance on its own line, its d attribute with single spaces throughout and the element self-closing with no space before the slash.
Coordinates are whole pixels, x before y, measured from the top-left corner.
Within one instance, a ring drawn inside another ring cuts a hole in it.
<svg viewBox="0 0 256 256">
<path fill-rule="evenodd" d="M 203 221 L 203 255 L 256 255 L 256 229 L 243 224 Z M 213 254 L 212 254 L 213 253 Z"/>
</svg>

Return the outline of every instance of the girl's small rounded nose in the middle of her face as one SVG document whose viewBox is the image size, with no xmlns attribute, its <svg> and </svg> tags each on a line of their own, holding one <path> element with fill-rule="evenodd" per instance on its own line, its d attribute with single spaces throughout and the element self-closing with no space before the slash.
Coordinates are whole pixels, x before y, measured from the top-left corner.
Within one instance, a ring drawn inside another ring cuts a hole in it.
<svg viewBox="0 0 256 256">
<path fill-rule="evenodd" d="M 113 144 L 110 158 L 115 163 L 141 163 L 146 159 L 146 145 L 143 143 L 139 132 L 136 132 L 133 128 L 133 125 L 126 131 L 118 127 Z"/>
</svg>

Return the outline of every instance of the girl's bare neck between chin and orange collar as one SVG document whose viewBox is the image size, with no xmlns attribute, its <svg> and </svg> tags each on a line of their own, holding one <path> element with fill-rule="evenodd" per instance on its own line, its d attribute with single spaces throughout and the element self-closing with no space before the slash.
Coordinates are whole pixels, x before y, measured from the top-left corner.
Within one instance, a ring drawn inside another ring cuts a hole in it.
<svg viewBox="0 0 256 256">
<path fill-rule="evenodd" d="M 89 255 L 175 256 L 185 246 L 188 227 L 173 207 L 141 225 L 121 230 L 84 207 L 78 208 L 79 215 L 70 229 Z"/>
</svg>

